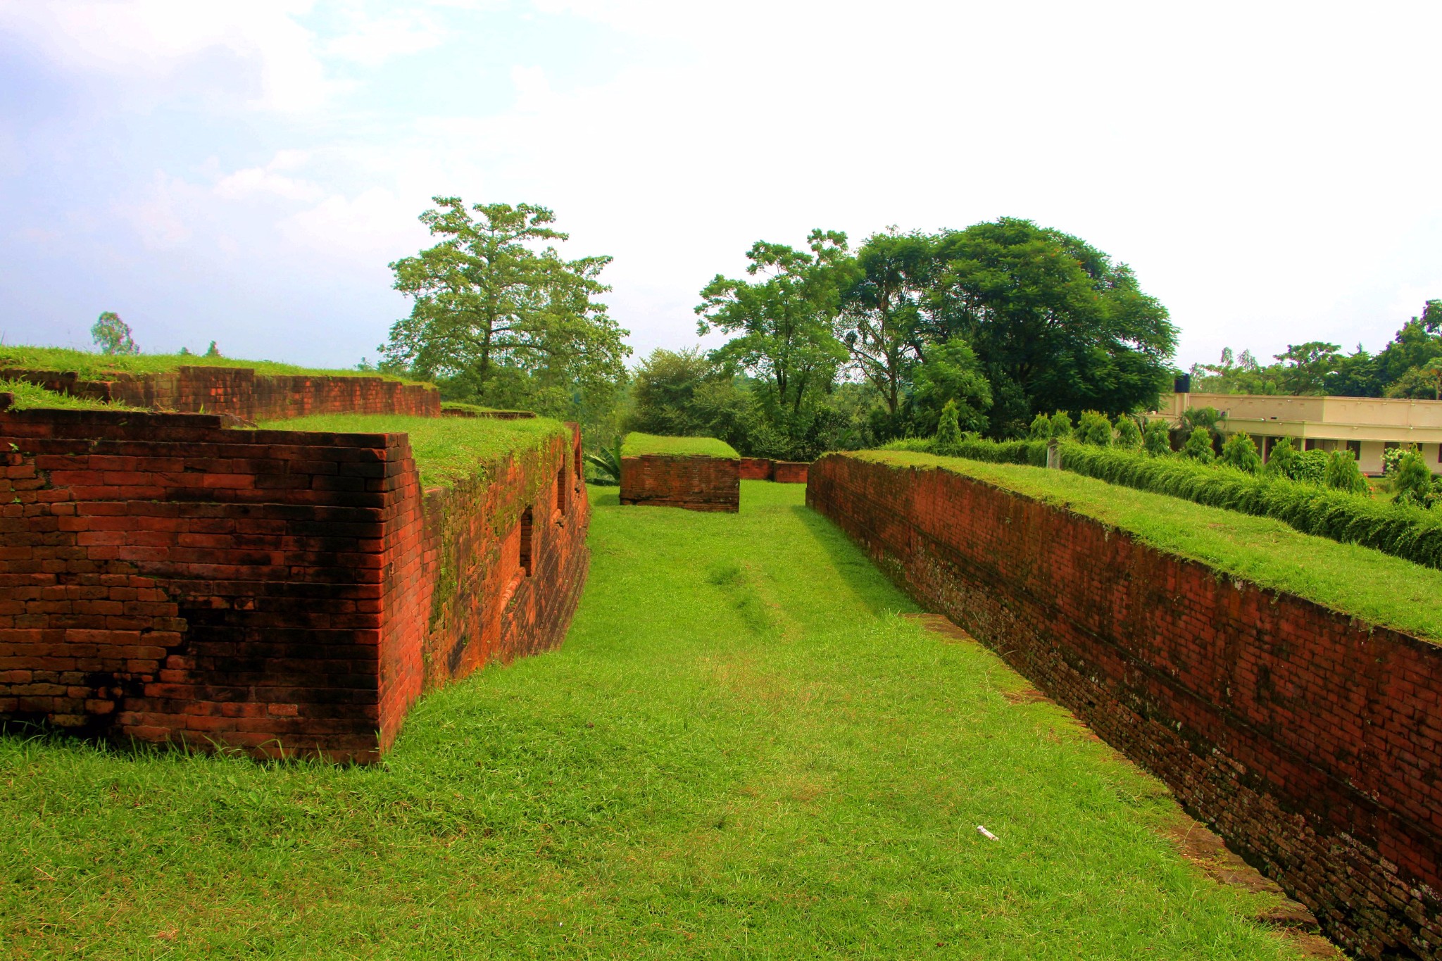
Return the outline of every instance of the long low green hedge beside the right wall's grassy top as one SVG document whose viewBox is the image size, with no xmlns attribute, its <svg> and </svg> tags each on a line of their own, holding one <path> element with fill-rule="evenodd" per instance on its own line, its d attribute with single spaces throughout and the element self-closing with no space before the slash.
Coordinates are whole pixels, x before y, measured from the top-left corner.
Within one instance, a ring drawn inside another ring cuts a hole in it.
<svg viewBox="0 0 1442 961">
<path fill-rule="evenodd" d="M 968 439 L 946 451 L 936 450 L 932 441 L 904 444 L 888 445 L 888 450 L 1034 467 L 1044 467 L 1047 462 L 1047 444 L 1043 441 Z M 1442 568 L 1442 516 L 1420 507 L 1379 501 L 1285 477 L 1246 474 L 1227 465 L 1206 465 L 1073 442 L 1061 444 L 1061 468 L 1210 507 L 1275 517 L 1302 533 Z"/>
</svg>

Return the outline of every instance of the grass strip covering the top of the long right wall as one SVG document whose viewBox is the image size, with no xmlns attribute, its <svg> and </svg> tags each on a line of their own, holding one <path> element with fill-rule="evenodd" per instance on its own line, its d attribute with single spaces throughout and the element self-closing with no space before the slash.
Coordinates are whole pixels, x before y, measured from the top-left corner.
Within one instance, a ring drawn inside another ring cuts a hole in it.
<svg viewBox="0 0 1442 961">
<path fill-rule="evenodd" d="M 910 451 L 861 460 L 942 468 L 1094 517 L 1139 540 L 1371 624 L 1442 641 L 1442 571 L 1357 545 L 1304 535 L 1280 520 L 1120 487 L 1070 471 Z"/>
</svg>

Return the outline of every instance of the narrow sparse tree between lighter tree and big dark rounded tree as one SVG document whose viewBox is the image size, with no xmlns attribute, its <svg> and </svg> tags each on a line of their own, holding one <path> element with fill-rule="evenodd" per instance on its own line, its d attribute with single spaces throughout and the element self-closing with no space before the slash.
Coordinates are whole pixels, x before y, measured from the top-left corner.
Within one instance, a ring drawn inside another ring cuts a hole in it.
<svg viewBox="0 0 1442 961">
<path fill-rule="evenodd" d="M 874 233 L 857 249 L 851 282 L 842 291 L 836 337 L 893 419 L 923 353 L 921 300 L 930 267 L 926 235 Z"/>
</svg>

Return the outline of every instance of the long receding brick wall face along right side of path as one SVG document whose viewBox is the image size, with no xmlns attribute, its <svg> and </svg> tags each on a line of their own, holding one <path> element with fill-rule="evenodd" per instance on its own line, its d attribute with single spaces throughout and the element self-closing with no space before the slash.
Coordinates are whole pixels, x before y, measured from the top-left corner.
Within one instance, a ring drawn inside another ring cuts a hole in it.
<svg viewBox="0 0 1442 961">
<path fill-rule="evenodd" d="M 940 470 L 828 455 L 806 501 L 1364 957 L 1442 957 L 1442 650 Z"/>
</svg>

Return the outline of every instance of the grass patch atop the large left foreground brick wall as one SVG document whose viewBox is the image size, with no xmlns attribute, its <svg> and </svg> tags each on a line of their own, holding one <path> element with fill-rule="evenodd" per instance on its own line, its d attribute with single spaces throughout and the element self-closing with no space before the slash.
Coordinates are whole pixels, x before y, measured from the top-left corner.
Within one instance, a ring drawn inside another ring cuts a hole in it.
<svg viewBox="0 0 1442 961">
<path fill-rule="evenodd" d="M 497 421 L 493 418 L 424 418 L 395 414 L 317 414 L 288 421 L 262 421 L 268 431 L 324 431 L 327 434 L 407 434 L 423 487 L 450 487 L 474 477 L 480 464 L 506 454 L 535 450 L 568 428 L 549 418 Z"/>
</svg>

